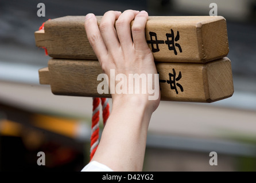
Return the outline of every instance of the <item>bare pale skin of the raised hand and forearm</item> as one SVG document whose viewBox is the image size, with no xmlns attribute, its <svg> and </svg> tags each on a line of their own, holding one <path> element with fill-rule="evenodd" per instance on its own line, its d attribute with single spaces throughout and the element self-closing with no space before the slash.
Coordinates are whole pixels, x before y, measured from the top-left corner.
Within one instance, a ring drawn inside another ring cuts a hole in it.
<svg viewBox="0 0 256 183">
<path fill-rule="evenodd" d="M 110 69 L 127 78 L 134 73 L 157 74 L 153 54 L 145 39 L 147 20 L 146 11 L 107 11 L 98 26 L 94 14 L 86 15 L 84 25 L 88 40 L 108 78 Z M 154 83 L 152 80 L 150 82 Z M 141 171 L 149 121 L 160 103 L 160 95 L 157 100 L 148 100 L 149 93 L 111 96 L 112 112 L 92 161 L 114 171 Z"/>
</svg>

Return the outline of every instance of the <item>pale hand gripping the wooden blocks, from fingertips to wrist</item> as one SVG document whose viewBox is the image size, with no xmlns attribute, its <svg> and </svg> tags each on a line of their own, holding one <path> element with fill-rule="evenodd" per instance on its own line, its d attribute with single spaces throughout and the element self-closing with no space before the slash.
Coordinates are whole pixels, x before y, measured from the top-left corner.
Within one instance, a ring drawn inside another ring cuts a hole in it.
<svg viewBox="0 0 256 183">
<path fill-rule="evenodd" d="M 133 26 L 130 28 L 133 19 Z M 153 54 L 145 39 L 147 20 L 148 13 L 146 11 L 126 10 L 123 13 L 107 11 L 99 27 L 95 15 L 88 14 L 85 28 L 102 70 L 108 75 L 108 83 L 115 83 L 114 93 L 111 92 L 113 105 L 116 103 L 115 101 L 130 101 L 146 105 L 153 113 L 160 102 L 160 89 Z M 117 87 L 118 82 L 115 81 L 115 78 L 110 77 L 111 69 L 114 69 L 115 76 L 122 76 L 118 85 L 120 86 L 120 82 L 123 82 L 121 93 L 117 91 L 120 89 Z M 137 76 L 137 79 L 139 79 L 139 75 L 144 76 L 143 81 L 140 83 L 134 81 L 133 85 L 129 85 L 131 81 L 129 74 L 137 74 L 134 75 Z M 150 75 L 153 77 L 149 77 Z M 133 90 L 136 87 L 138 87 L 137 94 Z M 151 93 L 148 90 L 149 87 L 153 90 Z M 113 91 L 113 88 L 110 91 Z"/>
</svg>

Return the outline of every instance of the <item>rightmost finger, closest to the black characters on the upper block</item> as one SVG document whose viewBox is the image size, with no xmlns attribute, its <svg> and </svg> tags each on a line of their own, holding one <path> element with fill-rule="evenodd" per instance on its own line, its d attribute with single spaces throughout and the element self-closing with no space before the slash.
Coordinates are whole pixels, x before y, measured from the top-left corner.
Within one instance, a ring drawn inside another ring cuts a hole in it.
<svg viewBox="0 0 256 183">
<path fill-rule="evenodd" d="M 133 22 L 131 32 L 133 34 L 133 43 L 135 50 L 146 50 L 149 49 L 145 38 L 145 27 L 148 21 L 148 13 L 146 11 L 140 11 Z"/>
</svg>

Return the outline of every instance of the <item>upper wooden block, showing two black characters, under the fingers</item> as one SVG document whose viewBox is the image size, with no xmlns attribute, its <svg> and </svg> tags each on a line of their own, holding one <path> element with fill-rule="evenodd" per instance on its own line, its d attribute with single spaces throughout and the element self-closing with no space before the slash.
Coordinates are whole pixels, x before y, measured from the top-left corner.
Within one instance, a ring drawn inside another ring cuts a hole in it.
<svg viewBox="0 0 256 183">
<path fill-rule="evenodd" d="M 145 34 L 155 61 L 208 62 L 228 54 L 226 19 L 219 16 L 149 17 Z M 36 45 L 46 47 L 53 58 L 97 59 L 84 16 L 51 19 L 34 35 Z"/>
</svg>

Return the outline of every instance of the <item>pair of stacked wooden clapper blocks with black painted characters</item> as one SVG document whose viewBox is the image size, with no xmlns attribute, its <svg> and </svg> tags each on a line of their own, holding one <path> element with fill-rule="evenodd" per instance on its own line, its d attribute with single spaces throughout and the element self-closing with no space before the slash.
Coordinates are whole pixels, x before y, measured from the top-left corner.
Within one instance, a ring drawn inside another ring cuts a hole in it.
<svg viewBox="0 0 256 183">
<path fill-rule="evenodd" d="M 97 92 L 103 71 L 88 42 L 84 18 L 51 19 L 36 31 L 36 45 L 53 57 L 39 70 L 40 83 L 51 85 L 53 94 L 111 97 Z M 145 36 L 159 73 L 161 100 L 214 102 L 234 93 L 223 17 L 149 17 Z"/>
</svg>

